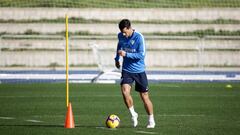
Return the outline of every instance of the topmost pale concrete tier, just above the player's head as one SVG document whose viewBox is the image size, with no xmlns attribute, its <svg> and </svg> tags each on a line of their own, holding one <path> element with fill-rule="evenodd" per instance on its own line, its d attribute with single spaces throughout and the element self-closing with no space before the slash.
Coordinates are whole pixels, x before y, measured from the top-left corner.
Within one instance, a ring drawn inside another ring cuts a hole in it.
<svg viewBox="0 0 240 135">
<path fill-rule="evenodd" d="M 1 19 L 54 19 L 82 17 L 99 20 L 213 20 L 219 18 L 240 20 L 240 8 L 153 8 L 153 9 L 103 9 L 103 8 L 0 8 Z"/>
</svg>

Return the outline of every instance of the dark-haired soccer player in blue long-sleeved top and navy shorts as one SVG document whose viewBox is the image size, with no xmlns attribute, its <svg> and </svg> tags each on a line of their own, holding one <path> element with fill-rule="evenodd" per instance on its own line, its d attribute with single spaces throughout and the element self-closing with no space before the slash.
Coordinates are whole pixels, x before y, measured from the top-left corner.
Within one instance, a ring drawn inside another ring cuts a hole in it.
<svg viewBox="0 0 240 135">
<path fill-rule="evenodd" d="M 133 127 L 138 125 L 138 113 L 134 110 L 131 87 L 135 82 L 135 90 L 144 103 L 148 114 L 147 128 L 154 128 L 153 105 L 148 95 L 148 80 L 145 73 L 145 41 L 141 33 L 131 27 L 128 19 L 119 22 L 120 33 L 118 34 L 118 45 L 115 57 L 115 66 L 120 68 L 120 57 L 122 63 L 121 91 L 124 102 L 132 116 Z"/>
</svg>

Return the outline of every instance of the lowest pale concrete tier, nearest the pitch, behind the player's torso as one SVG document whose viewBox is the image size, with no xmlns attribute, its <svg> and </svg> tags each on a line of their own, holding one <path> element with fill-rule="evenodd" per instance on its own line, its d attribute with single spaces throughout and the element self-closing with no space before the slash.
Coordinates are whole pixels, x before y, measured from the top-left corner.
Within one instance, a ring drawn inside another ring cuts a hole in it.
<svg viewBox="0 0 240 135">
<path fill-rule="evenodd" d="M 114 64 L 114 51 L 99 52 L 99 60 L 104 65 Z M 239 66 L 240 51 L 147 51 L 148 67 L 199 67 L 199 66 Z M 0 66 L 47 67 L 52 64 L 65 65 L 64 51 L 3 51 L 0 54 Z M 97 60 L 91 51 L 70 51 L 69 64 L 75 66 L 92 66 Z"/>
</svg>

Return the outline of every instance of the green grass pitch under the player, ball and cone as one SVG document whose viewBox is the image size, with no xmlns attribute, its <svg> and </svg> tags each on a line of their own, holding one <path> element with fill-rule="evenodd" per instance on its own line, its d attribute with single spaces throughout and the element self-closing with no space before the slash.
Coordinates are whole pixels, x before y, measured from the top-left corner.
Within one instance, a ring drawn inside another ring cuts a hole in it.
<svg viewBox="0 0 240 135">
<path fill-rule="evenodd" d="M 236 135 L 240 129 L 240 84 L 233 83 L 232 88 L 226 85 L 150 84 L 157 126 L 146 129 L 147 115 L 137 92 L 132 91 L 132 95 L 139 113 L 139 126 L 132 128 L 119 85 L 70 84 L 76 128 L 65 129 L 65 84 L 0 84 L 0 133 Z M 109 114 L 120 117 L 120 128 L 105 128 Z"/>
</svg>

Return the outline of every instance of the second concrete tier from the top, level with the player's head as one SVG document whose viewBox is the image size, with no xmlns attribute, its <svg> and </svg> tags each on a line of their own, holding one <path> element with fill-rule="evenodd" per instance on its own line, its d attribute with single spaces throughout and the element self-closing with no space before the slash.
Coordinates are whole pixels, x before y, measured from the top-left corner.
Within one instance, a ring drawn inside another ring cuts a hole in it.
<svg viewBox="0 0 240 135">
<path fill-rule="evenodd" d="M 213 29 L 215 31 L 237 31 L 239 24 L 133 24 L 133 28 L 142 33 L 189 32 Z M 24 33 L 27 30 L 41 34 L 56 34 L 65 31 L 65 24 L 54 23 L 2 23 L 0 32 Z M 92 34 L 117 34 L 118 24 L 69 24 L 69 32 L 85 31 Z"/>
</svg>

